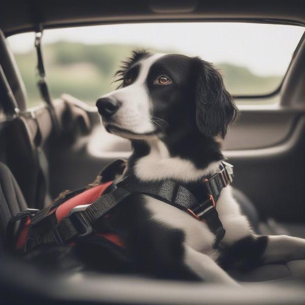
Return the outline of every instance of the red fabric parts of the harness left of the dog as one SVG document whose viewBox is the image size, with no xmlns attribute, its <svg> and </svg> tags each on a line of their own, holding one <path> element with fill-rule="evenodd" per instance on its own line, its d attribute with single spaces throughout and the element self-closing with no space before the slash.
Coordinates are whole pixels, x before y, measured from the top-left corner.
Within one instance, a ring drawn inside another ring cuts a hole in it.
<svg viewBox="0 0 305 305">
<path fill-rule="evenodd" d="M 98 185 L 96 187 L 93 187 L 91 189 L 88 189 L 70 199 L 67 201 L 63 202 L 57 207 L 54 207 L 50 210 L 49 215 L 55 213 L 56 221 L 57 223 L 61 221 L 64 217 L 68 216 L 70 214 L 70 211 L 78 206 L 78 205 L 83 205 L 83 204 L 91 204 L 93 203 L 97 198 L 99 198 L 103 193 L 106 191 L 106 189 L 112 185 L 112 181 L 108 181 L 104 184 Z M 17 250 L 22 249 L 24 246 L 27 236 L 28 236 L 28 231 L 31 226 L 31 217 L 28 216 L 23 224 L 23 227 L 20 231 L 20 234 L 17 238 L 16 242 L 16 248 Z M 104 237 L 111 241 L 112 243 L 115 243 L 115 245 L 119 247 L 123 247 L 123 243 L 121 242 L 119 236 L 115 233 L 112 232 L 107 232 L 107 233 L 99 233 L 95 232 L 95 235 Z"/>
</svg>

